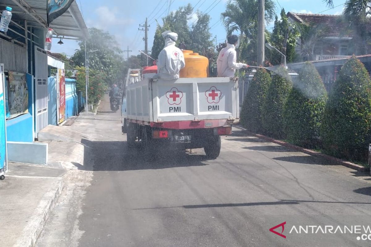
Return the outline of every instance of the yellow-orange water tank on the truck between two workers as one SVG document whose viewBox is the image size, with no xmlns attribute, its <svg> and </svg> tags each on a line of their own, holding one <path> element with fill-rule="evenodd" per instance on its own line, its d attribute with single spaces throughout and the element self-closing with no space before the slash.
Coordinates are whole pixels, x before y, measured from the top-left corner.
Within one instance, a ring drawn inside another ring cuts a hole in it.
<svg viewBox="0 0 371 247">
<path fill-rule="evenodd" d="M 209 76 L 209 59 L 193 53 L 190 50 L 183 50 L 185 67 L 180 70 L 181 78 L 197 78 Z"/>
</svg>

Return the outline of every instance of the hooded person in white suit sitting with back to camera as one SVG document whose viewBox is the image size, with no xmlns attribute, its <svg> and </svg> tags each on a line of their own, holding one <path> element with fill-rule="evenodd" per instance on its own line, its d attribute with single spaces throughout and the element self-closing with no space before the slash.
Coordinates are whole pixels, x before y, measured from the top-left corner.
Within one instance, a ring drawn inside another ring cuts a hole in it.
<svg viewBox="0 0 371 247">
<path fill-rule="evenodd" d="M 157 77 L 164 80 L 178 79 L 179 71 L 185 66 L 183 52 L 175 47 L 178 34 L 165 31 L 162 33 L 162 37 L 165 39 L 165 47 L 158 55 Z"/>
</svg>

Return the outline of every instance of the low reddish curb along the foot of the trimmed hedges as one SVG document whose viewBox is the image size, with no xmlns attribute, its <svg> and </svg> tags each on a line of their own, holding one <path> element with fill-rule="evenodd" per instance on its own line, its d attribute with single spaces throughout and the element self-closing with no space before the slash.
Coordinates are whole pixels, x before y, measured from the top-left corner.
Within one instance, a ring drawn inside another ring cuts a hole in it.
<svg viewBox="0 0 371 247">
<path fill-rule="evenodd" d="M 269 142 L 272 142 L 272 143 L 276 143 L 276 144 L 279 144 L 281 146 L 288 147 L 290 149 L 297 150 L 297 151 L 300 151 L 302 153 L 309 154 L 311 156 L 323 158 L 323 159 L 328 160 L 328 161 L 331 161 L 332 163 L 337 164 L 337 165 L 346 166 L 346 167 L 352 168 L 352 169 L 357 170 L 357 171 L 362 171 L 362 172 L 368 172 L 368 171 L 370 171 L 370 168 L 368 168 L 368 167 L 359 166 L 359 165 L 354 164 L 354 163 L 349 162 L 349 161 L 341 160 L 339 158 L 335 158 L 335 157 L 332 157 L 332 156 L 329 156 L 329 155 L 326 155 L 326 154 L 322 154 L 322 153 L 313 151 L 311 149 L 299 147 L 299 146 L 296 146 L 296 145 L 287 143 L 286 141 L 279 141 L 279 140 L 276 140 L 276 139 L 273 139 L 273 138 L 264 136 L 262 134 L 255 134 L 255 133 L 252 133 L 252 132 L 249 132 L 249 131 L 245 130 L 244 128 L 241 128 L 241 129 L 244 130 L 244 131 L 246 131 L 246 133 L 252 134 L 253 136 L 255 136 L 257 138 L 264 139 L 266 141 L 269 141 Z"/>
</svg>

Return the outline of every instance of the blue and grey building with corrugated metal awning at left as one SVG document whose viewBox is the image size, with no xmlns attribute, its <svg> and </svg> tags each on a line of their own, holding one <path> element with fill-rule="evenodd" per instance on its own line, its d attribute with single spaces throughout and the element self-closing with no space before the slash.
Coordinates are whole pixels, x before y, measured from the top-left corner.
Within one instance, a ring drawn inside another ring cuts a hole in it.
<svg viewBox="0 0 371 247">
<path fill-rule="evenodd" d="M 50 110 L 48 53 L 44 50 L 47 28 L 53 29 L 53 39 L 58 40 L 84 40 L 89 36 L 76 1 L 58 4 L 45 0 L 4 0 L 0 6 L 0 13 L 6 6 L 12 7 L 9 30 L 0 32 L 0 81 L 6 105 L 6 135 L 0 133 L 0 147 L 6 146 L 3 137 L 7 136 L 11 161 L 33 163 L 40 158 L 33 148 L 38 146 L 34 141 L 39 131 L 48 125 Z M 2 149 L 0 152 L 1 168 L 6 156 Z"/>
</svg>

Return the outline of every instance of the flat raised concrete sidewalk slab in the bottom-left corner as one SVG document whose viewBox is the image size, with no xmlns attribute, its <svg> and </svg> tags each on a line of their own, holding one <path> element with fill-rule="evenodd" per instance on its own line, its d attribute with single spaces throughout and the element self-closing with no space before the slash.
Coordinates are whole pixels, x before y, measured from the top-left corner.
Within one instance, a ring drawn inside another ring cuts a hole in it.
<svg viewBox="0 0 371 247">
<path fill-rule="evenodd" d="M 33 246 L 62 190 L 62 169 L 9 163 L 0 181 L 1 246 Z"/>
</svg>

